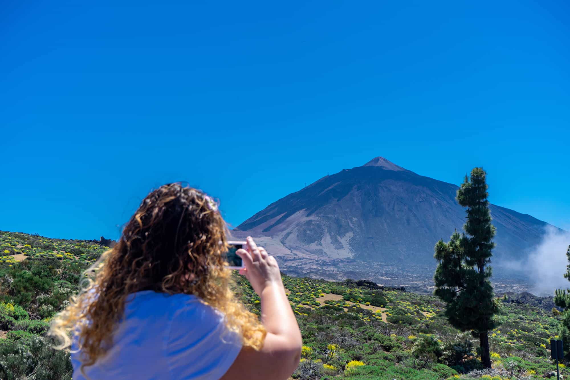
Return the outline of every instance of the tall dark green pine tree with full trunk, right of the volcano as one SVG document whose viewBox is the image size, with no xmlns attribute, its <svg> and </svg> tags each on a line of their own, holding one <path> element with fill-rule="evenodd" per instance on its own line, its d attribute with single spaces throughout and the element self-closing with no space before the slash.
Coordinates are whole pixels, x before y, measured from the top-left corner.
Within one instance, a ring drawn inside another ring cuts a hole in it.
<svg viewBox="0 0 570 380">
<path fill-rule="evenodd" d="M 435 296 L 446 302 L 446 317 L 450 324 L 462 331 L 471 331 L 481 343 L 483 366 L 491 368 L 488 330 L 497 324 L 494 315 L 499 311 L 493 299 L 491 277 L 492 249 L 495 227 L 487 200 L 486 173 L 474 168 L 471 178 L 457 191 L 457 201 L 466 207 L 467 223 L 461 235 L 455 231 L 447 243 L 435 245 L 434 257 L 439 261 L 434 274 Z"/>
</svg>

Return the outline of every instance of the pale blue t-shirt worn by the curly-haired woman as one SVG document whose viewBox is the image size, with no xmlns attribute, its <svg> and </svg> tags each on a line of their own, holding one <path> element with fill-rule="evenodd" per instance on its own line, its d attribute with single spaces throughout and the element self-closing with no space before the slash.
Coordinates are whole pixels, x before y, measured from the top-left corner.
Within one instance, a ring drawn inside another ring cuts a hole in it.
<svg viewBox="0 0 570 380">
<path fill-rule="evenodd" d="M 84 372 L 92 380 L 219 379 L 241 347 L 223 314 L 196 296 L 144 290 L 127 298 L 113 345 Z M 83 380 L 76 341 L 71 349 L 73 379 Z"/>
</svg>

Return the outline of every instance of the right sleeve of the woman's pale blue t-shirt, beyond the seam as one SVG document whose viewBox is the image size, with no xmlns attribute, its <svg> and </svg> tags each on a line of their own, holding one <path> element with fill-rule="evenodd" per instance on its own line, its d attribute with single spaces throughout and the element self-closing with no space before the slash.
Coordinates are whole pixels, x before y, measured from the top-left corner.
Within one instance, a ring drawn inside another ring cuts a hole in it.
<svg viewBox="0 0 570 380">
<path fill-rule="evenodd" d="M 223 314 L 198 299 L 173 313 L 165 339 L 173 379 L 219 379 L 241 348 L 241 337 L 226 328 Z"/>
</svg>

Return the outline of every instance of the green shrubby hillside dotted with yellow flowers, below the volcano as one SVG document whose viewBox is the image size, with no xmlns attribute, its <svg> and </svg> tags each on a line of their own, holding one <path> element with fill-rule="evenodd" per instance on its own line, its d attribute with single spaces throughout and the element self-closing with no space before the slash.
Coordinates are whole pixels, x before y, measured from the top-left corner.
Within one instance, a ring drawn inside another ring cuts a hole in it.
<svg viewBox="0 0 570 380">
<path fill-rule="evenodd" d="M 105 249 L 96 241 L 0 232 L 1 379 L 71 379 L 69 355 L 43 335 Z M 259 313 L 259 297 L 245 278 L 235 279 L 243 302 Z M 555 370 L 548 343 L 559 319 L 535 306 L 503 302 L 501 325 L 490 335 L 494 369 L 486 372 L 477 340 L 447 323 L 435 297 L 353 282 L 283 281 L 304 342 L 294 378 L 538 379 Z M 570 375 L 565 367 L 561 373 Z"/>
</svg>

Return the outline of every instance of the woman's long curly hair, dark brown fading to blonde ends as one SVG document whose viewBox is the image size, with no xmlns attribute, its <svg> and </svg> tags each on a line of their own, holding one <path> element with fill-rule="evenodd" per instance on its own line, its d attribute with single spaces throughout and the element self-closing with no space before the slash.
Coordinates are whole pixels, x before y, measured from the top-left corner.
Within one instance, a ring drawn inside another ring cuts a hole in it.
<svg viewBox="0 0 570 380">
<path fill-rule="evenodd" d="M 75 334 L 83 372 L 112 345 L 127 296 L 154 290 L 200 297 L 225 314 L 227 328 L 241 335 L 243 346 L 260 349 L 266 330 L 231 289 L 226 233 L 217 205 L 201 191 L 173 183 L 151 192 L 119 242 L 87 270 L 79 296 L 52 321 L 56 348 L 69 347 Z"/>
</svg>

